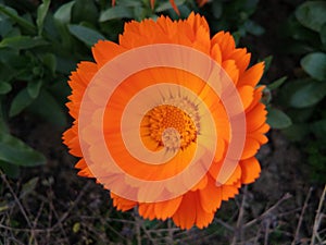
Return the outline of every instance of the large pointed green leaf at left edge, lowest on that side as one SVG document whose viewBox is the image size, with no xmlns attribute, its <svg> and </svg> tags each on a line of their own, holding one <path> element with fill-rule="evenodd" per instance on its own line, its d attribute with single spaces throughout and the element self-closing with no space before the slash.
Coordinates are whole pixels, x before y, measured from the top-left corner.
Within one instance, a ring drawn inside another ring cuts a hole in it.
<svg viewBox="0 0 326 245">
<path fill-rule="evenodd" d="M 4 133 L 0 133 L 0 160 L 24 167 L 45 164 L 47 161 L 43 155 Z"/>
</svg>

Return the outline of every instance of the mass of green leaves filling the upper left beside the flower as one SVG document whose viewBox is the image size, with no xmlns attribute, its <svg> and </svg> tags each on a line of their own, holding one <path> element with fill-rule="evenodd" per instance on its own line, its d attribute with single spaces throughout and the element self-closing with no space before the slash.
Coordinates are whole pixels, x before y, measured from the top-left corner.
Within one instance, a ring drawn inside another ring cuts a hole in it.
<svg viewBox="0 0 326 245">
<path fill-rule="evenodd" d="M 172 9 L 167 2 L 74 0 L 0 0 L 0 168 L 11 176 L 18 167 L 46 163 L 40 152 L 11 134 L 13 118 L 28 113 L 66 125 L 67 78 L 80 60 L 90 60 L 99 39 L 116 39 L 123 20 L 142 19 Z"/>
</svg>

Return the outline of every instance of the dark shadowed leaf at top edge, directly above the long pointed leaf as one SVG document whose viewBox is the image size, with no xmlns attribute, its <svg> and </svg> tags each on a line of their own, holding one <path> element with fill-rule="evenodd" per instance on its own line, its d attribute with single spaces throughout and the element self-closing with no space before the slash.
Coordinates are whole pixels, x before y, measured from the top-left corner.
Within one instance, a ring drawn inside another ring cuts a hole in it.
<svg viewBox="0 0 326 245">
<path fill-rule="evenodd" d="M 75 0 L 72 9 L 73 23 L 89 22 L 96 25 L 98 19 L 99 13 L 93 0 Z"/>
</svg>

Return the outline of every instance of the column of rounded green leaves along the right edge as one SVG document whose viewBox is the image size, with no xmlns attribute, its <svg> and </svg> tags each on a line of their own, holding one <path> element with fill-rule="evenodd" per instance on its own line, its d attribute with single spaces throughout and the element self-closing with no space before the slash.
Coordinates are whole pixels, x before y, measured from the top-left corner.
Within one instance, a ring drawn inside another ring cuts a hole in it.
<svg viewBox="0 0 326 245">
<path fill-rule="evenodd" d="M 300 142 L 309 154 L 313 179 L 326 174 L 326 2 L 300 4 L 284 29 L 288 34 L 288 51 L 300 58 L 296 79 L 283 86 L 279 102 L 293 124 L 285 134 Z M 312 140 L 309 140 L 312 138 Z"/>
</svg>

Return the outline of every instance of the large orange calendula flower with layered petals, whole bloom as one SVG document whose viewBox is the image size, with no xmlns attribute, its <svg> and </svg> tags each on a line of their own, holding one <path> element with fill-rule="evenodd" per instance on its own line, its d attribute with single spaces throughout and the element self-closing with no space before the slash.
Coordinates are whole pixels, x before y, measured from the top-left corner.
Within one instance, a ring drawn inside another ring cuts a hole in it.
<svg viewBox="0 0 326 245">
<path fill-rule="evenodd" d="M 118 44 L 70 77 L 75 122 L 64 135 L 82 176 L 111 191 L 116 209 L 209 225 L 223 200 L 254 182 L 268 131 L 258 83 L 264 64 L 204 17 L 131 21 Z"/>
</svg>

